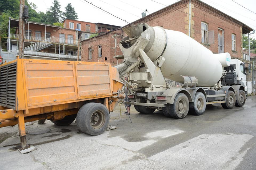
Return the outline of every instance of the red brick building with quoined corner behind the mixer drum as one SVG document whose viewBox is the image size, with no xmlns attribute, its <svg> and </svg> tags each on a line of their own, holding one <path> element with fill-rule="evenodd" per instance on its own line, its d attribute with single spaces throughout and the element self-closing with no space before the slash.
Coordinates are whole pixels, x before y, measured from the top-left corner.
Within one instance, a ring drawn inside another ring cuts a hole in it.
<svg viewBox="0 0 256 170">
<path fill-rule="evenodd" d="M 202 43 L 214 54 L 228 52 L 231 57 L 239 59 L 243 59 L 242 34 L 253 30 L 242 22 L 199 0 L 191 0 L 190 5 L 189 0 L 181 0 L 140 18 L 132 24 L 143 22 L 150 26 L 160 26 L 165 29 L 183 32 Z M 113 39 L 109 38 L 115 32 L 108 32 L 82 41 L 82 60 L 102 60 L 101 56 L 104 56 L 110 58 L 111 62 L 115 61 L 115 59 L 111 59 L 115 51 L 113 49 Z M 118 32 L 120 35 L 126 36 L 122 31 L 118 30 Z M 91 57 L 90 48 L 94 50 Z M 102 55 L 99 55 L 99 51 Z M 121 55 L 120 52 L 117 52 L 117 55 Z M 115 65 L 117 62 L 111 64 Z"/>
</svg>

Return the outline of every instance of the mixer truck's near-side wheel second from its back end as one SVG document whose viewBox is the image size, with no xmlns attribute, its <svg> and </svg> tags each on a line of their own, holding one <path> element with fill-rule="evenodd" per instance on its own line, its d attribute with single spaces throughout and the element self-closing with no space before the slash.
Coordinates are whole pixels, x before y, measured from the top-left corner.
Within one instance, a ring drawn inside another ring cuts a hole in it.
<svg viewBox="0 0 256 170">
<path fill-rule="evenodd" d="M 206 108 L 206 98 L 201 92 L 195 93 L 194 102 L 189 103 L 189 113 L 193 115 L 202 115 Z"/>
</svg>

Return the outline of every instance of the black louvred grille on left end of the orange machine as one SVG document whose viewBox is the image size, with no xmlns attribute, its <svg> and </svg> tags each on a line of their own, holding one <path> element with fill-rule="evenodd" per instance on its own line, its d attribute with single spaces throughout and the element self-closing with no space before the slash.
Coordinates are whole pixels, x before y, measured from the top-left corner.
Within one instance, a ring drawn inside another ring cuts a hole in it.
<svg viewBox="0 0 256 170">
<path fill-rule="evenodd" d="M 17 62 L 0 67 L 0 105 L 15 109 Z"/>
</svg>

